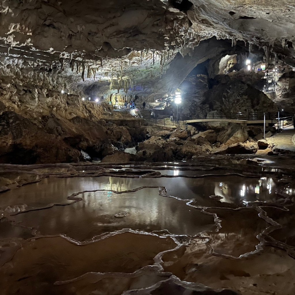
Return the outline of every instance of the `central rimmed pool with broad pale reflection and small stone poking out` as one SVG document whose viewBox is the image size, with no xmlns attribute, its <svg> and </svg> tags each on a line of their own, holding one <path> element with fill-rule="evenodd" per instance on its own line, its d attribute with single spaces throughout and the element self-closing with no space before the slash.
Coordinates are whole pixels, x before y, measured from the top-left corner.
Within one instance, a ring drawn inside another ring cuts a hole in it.
<svg viewBox="0 0 295 295">
<path fill-rule="evenodd" d="M 215 230 L 212 215 L 191 208 L 186 202 L 158 195 L 158 189 L 145 188 L 116 194 L 97 191 L 82 194 L 83 201 L 70 206 L 31 211 L 15 216 L 22 225 L 43 235 L 66 234 L 83 241 L 105 232 L 124 228 L 145 232 L 168 230 L 176 235 L 196 235 Z M 114 215 L 127 212 L 122 218 Z"/>
</svg>

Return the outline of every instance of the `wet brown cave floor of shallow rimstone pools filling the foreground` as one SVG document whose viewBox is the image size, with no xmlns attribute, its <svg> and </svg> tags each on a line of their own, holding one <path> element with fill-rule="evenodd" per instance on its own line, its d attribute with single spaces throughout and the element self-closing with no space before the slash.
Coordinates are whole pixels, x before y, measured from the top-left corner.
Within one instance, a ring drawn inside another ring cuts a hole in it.
<svg viewBox="0 0 295 295">
<path fill-rule="evenodd" d="M 293 295 L 294 163 L 0 165 L 1 294 Z"/>
</svg>

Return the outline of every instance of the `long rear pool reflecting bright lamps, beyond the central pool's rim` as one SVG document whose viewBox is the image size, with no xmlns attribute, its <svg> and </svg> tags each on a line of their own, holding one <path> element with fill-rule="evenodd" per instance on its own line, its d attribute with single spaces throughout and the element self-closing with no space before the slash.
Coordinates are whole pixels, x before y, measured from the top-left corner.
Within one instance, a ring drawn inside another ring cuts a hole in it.
<svg viewBox="0 0 295 295">
<path fill-rule="evenodd" d="M 174 173 L 177 175 L 178 170 Z M 44 207 L 47 204 L 67 204 L 67 196 L 93 191 L 113 190 L 117 192 L 134 190 L 143 186 L 165 186 L 167 194 L 181 199 L 195 199 L 198 206 L 223 206 L 223 203 L 234 206 L 245 206 L 244 203 L 262 201 L 275 202 L 277 184 L 272 178 L 247 178 L 242 176 L 207 176 L 200 178 L 183 177 L 74 177 L 43 179 L 19 189 L 1 194 L 0 207 L 27 204 L 30 207 Z M 283 191 L 293 194 L 293 189 Z M 212 200 L 209 196 L 222 196 L 220 201 Z"/>
</svg>

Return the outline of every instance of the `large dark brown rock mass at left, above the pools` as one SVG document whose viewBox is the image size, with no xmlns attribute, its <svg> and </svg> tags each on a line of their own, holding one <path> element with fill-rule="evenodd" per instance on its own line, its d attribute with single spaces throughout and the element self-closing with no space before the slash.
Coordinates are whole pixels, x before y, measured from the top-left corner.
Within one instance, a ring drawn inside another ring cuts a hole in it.
<svg viewBox="0 0 295 295">
<path fill-rule="evenodd" d="M 0 135 L 1 163 L 73 162 L 81 160 L 81 151 L 99 158 L 109 145 L 116 150 L 131 143 L 125 127 L 104 120 L 51 115 L 33 121 L 11 111 L 0 115 Z"/>
</svg>

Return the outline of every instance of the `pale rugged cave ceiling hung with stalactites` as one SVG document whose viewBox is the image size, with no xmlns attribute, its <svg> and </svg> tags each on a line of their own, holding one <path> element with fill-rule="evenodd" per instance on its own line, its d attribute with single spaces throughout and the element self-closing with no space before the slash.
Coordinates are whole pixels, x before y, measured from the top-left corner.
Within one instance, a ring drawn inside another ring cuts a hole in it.
<svg viewBox="0 0 295 295">
<path fill-rule="evenodd" d="M 2 83 L 81 94 L 169 92 L 194 66 L 235 54 L 237 46 L 260 49 L 266 60 L 277 53 L 293 65 L 294 6 L 291 0 L 0 1 Z M 176 75 L 179 68 L 186 69 Z"/>
</svg>

